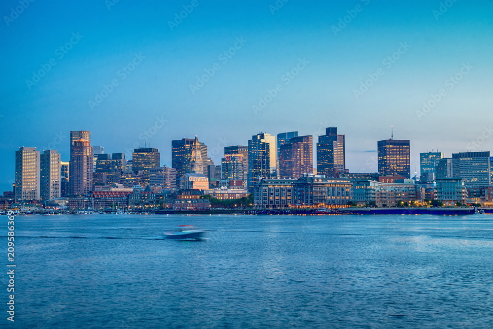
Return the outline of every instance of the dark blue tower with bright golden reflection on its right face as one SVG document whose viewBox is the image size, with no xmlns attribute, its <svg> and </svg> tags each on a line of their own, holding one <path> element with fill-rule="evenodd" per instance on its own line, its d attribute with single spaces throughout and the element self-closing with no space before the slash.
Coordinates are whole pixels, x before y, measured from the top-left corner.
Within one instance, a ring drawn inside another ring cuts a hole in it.
<svg viewBox="0 0 493 329">
<path fill-rule="evenodd" d="M 277 178 L 276 137 L 269 133 L 258 133 L 248 140 L 248 187 L 260 178 Z"/>
</svg>

